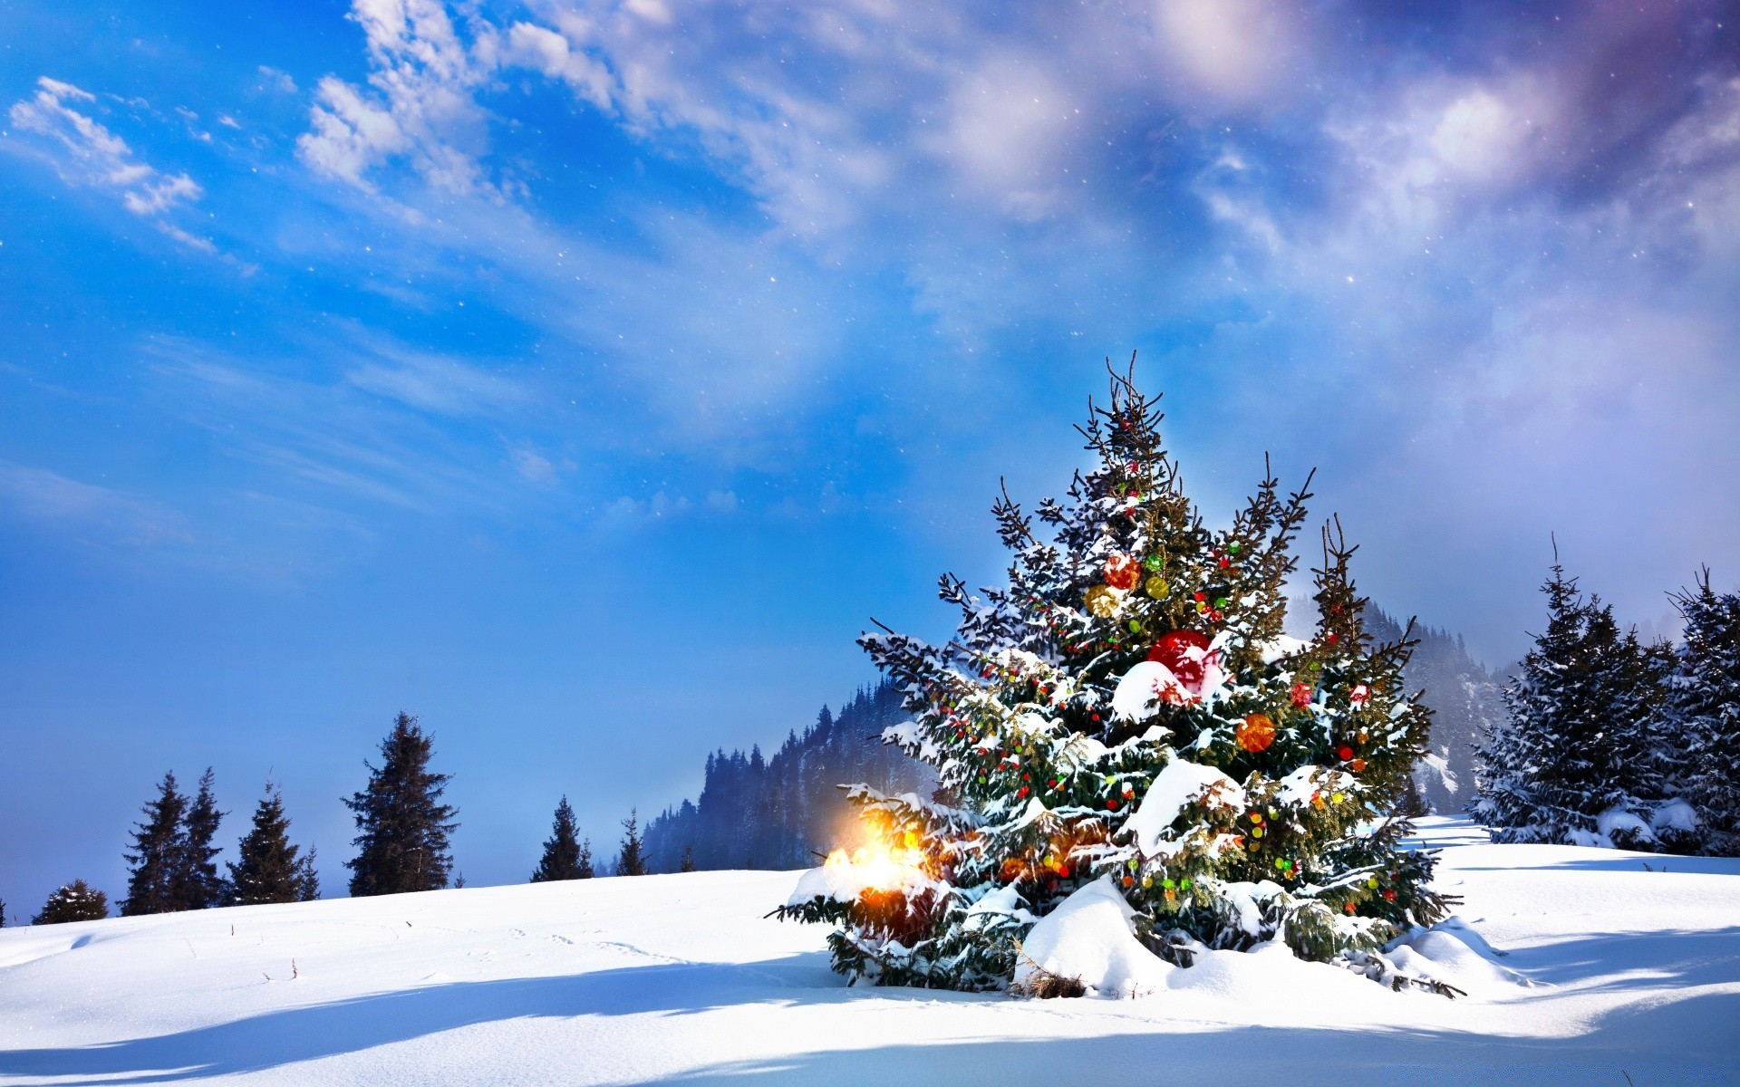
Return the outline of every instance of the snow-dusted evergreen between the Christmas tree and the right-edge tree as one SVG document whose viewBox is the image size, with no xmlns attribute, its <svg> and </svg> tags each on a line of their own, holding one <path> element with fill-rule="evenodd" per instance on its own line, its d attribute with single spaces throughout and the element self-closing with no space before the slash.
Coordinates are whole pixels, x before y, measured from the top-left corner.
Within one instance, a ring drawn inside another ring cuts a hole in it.
<svg viewBox="0 0 1740 1087">
<path fill-rule="evenodd" d="M 1505 687 L 1509 718 L 1476 753 L 1469 810 L 1495 842 L 1651 849 L 1665 656 L 1622 635 L 1611 605 L 1585 600 L 1557 558 L 1542 591 L 1547 630 Z"/>
</svg>

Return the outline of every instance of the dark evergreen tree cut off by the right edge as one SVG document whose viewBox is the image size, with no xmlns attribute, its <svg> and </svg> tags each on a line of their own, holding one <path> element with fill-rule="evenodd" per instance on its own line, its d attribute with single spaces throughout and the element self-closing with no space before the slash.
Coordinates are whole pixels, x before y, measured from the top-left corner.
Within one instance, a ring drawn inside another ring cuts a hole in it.
<svg viewBox="0 0 1740 1087">
<path fill-rule="evenodd" d="M 1674 595 L 1686 621 L 1674 684 L 1683 730 L 1683 781 L 1702 823 L 1703 850 L 1740 854 L 1740 595 L 1716 593 L 1703 570 L 1696 590 Z"/>
</svg>

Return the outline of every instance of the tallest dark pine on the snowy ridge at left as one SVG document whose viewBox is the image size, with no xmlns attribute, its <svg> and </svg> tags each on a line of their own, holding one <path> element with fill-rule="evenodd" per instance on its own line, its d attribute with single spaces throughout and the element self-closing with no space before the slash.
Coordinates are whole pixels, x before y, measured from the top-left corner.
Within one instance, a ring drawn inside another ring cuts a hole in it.
<svg viewBox="0 0 1740 1087">
<path fill-rule="evenodd" d="M 418 718 L 400 711 L 393 730 L 381 741 L 381 765 L 364 762 L 369 786 L 345 800 L 362 833 L 351 840 L 357 856 L 350 892 L 400 894 L 438 890 L 447 885 L 452 856 L 447 838 L 459 828 L 458 809 L 440 802 L 449 774 L 430 772 L 433 737 Z"/>
</svg>

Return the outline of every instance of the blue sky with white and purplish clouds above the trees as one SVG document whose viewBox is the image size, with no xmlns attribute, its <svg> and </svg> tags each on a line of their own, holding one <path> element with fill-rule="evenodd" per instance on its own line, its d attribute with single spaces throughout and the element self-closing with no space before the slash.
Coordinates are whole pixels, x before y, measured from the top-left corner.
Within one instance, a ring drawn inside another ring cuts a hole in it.
<svg viewBox="0 0 1740 1087">
<path fill-rule="evenodd" d="M 1498 663 L 1740 579 L 1733 3 L 0 0 L 0 896 L 400 708 L 524 878 L 997 577 L 1141 353 Z"/>
</svg>

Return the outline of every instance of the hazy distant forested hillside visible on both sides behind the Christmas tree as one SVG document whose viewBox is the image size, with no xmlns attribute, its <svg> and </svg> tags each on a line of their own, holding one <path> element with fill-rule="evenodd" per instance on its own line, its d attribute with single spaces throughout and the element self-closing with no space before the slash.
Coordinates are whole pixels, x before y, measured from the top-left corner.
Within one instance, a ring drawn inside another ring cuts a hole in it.
<svg viewBox="0 0 1740 1087">
<path fill-rule="evenodd" d="M 1308 605 L 1298 605 L 1310 614 Z M 1368 630 L 1380 640 L 1401 624 L 1376 607 Z M 1408 663 L 1413 690 L 1432 708 L 1432 757 L 1416 772 L 1432 810 L 1460 812 L 1474 786 L 1474 743 L 1503 715 L 1503 673 L 1489 673 L 1449 631 L 1416 628 Z M 931 769 L 884 746 L 882 729 L 910 715 L 889 684 L 860 689 L 839 715 L 823 706 L 816 724 L 792 732 L 771 758 L 724 750 L 706 757 L 699 800 L 665 809 L 646 828 L 652 871 L 679 871 L 687 850 L 694 868 L 809 868 L 816 854 L 849 844 L 849 809 L 840 784 L 867 783 L 886 793 L 929 795 Z"/>
</svg>

